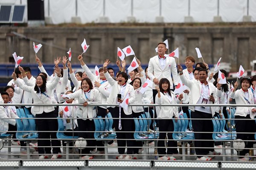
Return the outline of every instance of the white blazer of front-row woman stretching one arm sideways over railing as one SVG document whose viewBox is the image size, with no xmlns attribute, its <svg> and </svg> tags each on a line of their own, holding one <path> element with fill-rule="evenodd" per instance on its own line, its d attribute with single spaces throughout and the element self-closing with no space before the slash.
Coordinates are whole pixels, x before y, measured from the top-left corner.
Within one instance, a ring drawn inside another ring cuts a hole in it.
<svg viewBox="0 0 256 170">
<path fill-rule="evenodd" d="M 101 99 L 101 96 L 100 96 L 98 90 L 96 90 L 94 88 L 91 89 L 89 99 L 86 99 L 86 96 L 82 89 L 79 89 L 78 91 L 76 91 L 74 93 L 67 94 L 66 96 L 68 96 L 68 98 L 70 98 L 70 99 L 76 99 L 77 103 L 84 104 L 84 102 L 87 102 L 89 104 L 86 107 L 84 107 L 84 106 L 78 107 L 78 109 L 76 111 L 77 117 L 82 118 L 83 120 L 86 120 L 87 118 L 92 120 L 92 118 L 97 116 L 96 107 L 90 106 L 90 104 L 99 104 L 102 102 L 102 99 Z"/>
</svg>

